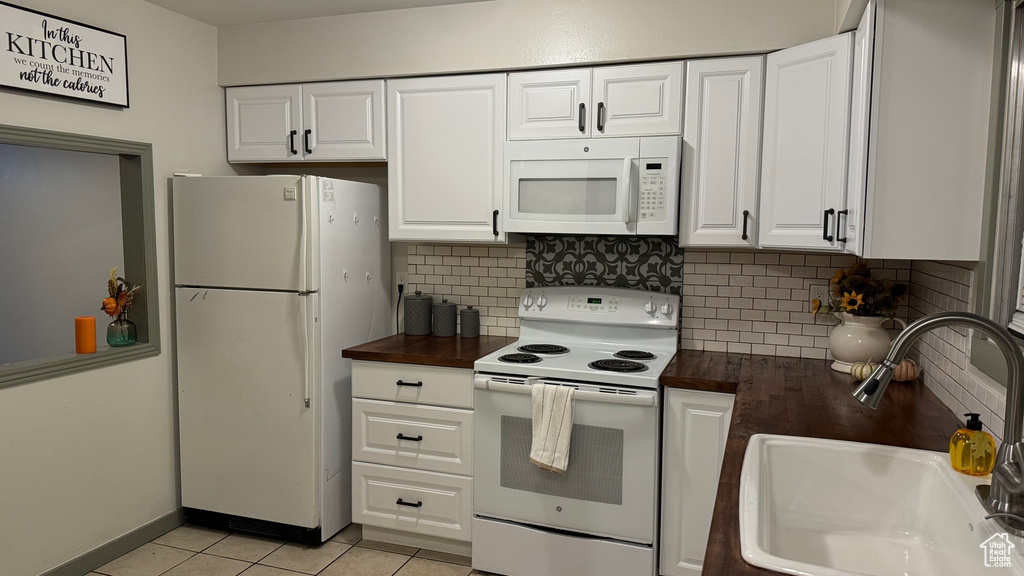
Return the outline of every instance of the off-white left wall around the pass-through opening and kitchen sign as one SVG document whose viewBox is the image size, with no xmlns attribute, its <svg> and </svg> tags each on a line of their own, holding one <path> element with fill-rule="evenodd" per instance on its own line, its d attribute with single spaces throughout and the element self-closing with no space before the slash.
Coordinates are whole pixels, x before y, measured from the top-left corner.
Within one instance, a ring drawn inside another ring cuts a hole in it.
<svg viewBox="0 0 1024 576">
<path fill-rule="evenodd" d="M 34 576 L 178 506 L 167 178 L 230 169 L 215 29 L 140 0 L 18 4 L 128 37 L 130 109 L 0 90 L 0 123 L 153 142 L 163 342 L 156 358 L 0 389 L 0 572 Z"/>
</svg>

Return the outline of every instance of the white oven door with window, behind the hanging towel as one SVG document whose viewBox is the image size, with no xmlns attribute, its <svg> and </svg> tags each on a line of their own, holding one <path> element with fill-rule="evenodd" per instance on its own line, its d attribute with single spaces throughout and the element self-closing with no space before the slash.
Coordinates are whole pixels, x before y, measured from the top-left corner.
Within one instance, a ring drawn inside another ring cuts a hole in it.
<svg viewBox="0 0 1024 576">
<path fill-rule="evenodd" d="M 580 384 L 568 468 L 555 474 L 529 462 L 531 380 L 475 377 L 473 513 L 652 544 L 657 392 Z"/>
</svg>

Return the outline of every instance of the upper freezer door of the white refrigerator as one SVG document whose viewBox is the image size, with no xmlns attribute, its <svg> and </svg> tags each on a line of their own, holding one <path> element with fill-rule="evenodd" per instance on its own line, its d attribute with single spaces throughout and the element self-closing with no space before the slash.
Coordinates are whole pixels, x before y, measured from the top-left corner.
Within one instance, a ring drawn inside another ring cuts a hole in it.
<svg viewBox="0 0 1024 576">
<path fill-rule="evenodd" d="M 318 202 L 299 176 L 177 177 L 174 283 L 316 290 Z"/>
</svg>

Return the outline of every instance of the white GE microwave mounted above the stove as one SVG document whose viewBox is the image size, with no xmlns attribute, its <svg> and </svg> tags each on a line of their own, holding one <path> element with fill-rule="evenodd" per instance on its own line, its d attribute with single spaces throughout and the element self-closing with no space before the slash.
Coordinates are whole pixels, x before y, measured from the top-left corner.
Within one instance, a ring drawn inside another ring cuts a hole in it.
<svg viewBox="0 0 1024 576">
<path fill-rule="evenodd" d="M 505 232 L 678 233 L 682 138 L 505 142 Z"/>
</svg>

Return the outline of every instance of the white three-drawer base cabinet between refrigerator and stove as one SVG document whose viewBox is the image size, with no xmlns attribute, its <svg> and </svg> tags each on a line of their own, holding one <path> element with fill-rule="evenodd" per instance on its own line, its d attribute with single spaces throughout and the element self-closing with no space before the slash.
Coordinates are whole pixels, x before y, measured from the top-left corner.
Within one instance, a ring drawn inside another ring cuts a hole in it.
<svg viewBox="0 0 1024 576">
<path fill-rule="evenodd" d="M 469 542 L 473 371 L 353 361 L 352 397 L 352 522 Z"/>
</svg>

